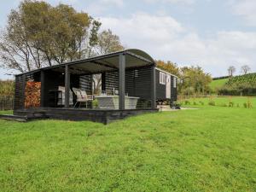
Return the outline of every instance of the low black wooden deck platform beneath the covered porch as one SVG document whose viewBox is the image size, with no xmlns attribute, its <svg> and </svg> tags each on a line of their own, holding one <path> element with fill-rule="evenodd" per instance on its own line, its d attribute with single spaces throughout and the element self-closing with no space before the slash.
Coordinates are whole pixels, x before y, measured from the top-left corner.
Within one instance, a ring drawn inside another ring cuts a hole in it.
<svg viewBox="0 0 256 192">
<path fill-rule="evenodd" d="M 67 119 L 67 120 L 90 120 L 105 125 L 117 119 L 125 119 L 140 113 L 156 113 L 159 109 L 87 109 L 87 108 L 29 108 L 15 110 L 14 115 L 27 119 Z"/>
</svg>

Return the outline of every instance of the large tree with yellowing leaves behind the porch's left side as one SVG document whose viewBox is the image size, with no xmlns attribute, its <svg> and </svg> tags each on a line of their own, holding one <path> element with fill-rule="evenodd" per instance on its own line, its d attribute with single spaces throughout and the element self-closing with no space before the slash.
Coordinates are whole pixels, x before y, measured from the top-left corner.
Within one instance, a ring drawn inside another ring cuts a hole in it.
<svg viewBox="0 0 256 192">
<path fill-rule="evenodd" d="M 1 32 L 2 67 L 21 73 L 90 56 L 101 23 L 70 6 L 25 0 Z"/>
</svg>

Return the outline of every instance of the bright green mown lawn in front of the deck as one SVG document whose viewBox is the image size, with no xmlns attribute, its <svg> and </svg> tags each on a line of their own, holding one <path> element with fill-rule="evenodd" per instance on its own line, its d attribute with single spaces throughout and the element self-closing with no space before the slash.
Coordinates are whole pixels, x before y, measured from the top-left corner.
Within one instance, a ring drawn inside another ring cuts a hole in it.
<svg viewBox="0 0 256 192">
<path fill-rule="evenodd" d="M 0 189 L 255 191 L 256 109 L 198 107 L 110 125 L 0 120 Z"/>
</svg>

